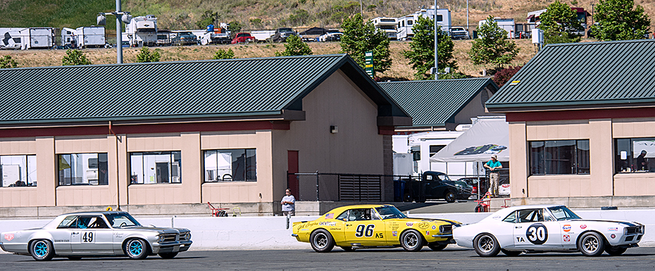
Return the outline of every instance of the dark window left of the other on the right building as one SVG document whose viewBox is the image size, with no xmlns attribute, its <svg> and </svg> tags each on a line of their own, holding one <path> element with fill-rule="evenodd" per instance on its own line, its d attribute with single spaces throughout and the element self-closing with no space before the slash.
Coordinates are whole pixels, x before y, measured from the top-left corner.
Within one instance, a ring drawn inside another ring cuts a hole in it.
<svg viewBox="0 0 655 271">
<path fill-rule="evenodd" d="M 589 174 L 589 139 L 530 141 L 530 175 Z"/>
</svg>

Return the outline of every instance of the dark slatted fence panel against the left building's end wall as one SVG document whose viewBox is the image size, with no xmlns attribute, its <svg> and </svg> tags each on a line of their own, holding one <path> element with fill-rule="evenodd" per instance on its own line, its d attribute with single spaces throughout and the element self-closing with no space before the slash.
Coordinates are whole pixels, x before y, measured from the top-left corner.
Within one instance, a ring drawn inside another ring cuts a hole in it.
<svg viewBox="0 0 655 271">
<path fill-rule="evenodd" d="M 339 175 L 339 201 L 382 201 L 380 176 Z"/>
</svg>

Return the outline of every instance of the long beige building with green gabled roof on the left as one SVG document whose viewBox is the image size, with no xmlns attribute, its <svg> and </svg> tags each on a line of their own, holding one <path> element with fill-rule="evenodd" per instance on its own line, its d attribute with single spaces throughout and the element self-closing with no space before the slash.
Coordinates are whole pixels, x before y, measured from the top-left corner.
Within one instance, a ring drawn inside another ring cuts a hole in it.
<svg viewBox="0 0 655 271">
<path fill-rule="evenodd" d="M 10 106 L 0 113 L 0 216 L 208 213 L 207 202 L 272 215 L 287 172 L 391 174 L 394 126 L 411 124 L 345 55 L 18 68 L 0 78 L 13 92 L 1 98 Z"/>
</svg>

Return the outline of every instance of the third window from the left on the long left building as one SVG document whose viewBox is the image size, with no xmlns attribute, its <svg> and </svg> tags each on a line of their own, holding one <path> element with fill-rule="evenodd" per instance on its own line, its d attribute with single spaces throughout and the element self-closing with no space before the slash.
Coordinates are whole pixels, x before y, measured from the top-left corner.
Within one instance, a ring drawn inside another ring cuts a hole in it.
<svg viewBox="0 0 655 271">
<path fill-rule="evenodd" d="M 130 184 L 182 182 L 182 151 L 130 153 Z"/>
</svg>

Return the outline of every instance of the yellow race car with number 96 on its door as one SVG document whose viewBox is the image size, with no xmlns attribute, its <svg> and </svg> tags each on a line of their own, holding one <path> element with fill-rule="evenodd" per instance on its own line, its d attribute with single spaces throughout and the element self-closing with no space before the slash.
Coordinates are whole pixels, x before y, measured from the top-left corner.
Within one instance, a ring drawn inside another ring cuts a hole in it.
<svg viewBox="0 0 655 271">
<path fill-rule="evenodd" d="M 390 246 L 420 251 L 426 244 L 440 251 L 455 243 L 453 227 L 459 226 L 451 220 L 408 218 L 392 205 L 354 205 L 332 209 L 317 220 L 294 222 L 292 236 L 316 252 L 335 246 L 344 251 Z"/>
</svg>

